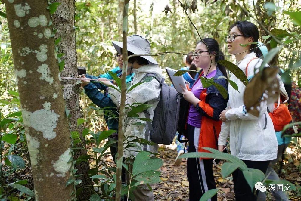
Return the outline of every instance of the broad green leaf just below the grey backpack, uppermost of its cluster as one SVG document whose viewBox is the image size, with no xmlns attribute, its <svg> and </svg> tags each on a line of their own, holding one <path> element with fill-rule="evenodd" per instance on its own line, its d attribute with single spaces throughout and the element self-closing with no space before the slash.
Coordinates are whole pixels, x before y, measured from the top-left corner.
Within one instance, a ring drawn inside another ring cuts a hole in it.
<svg viewBox="0 0 301 201">
<path fill-rule="evenodd" d="M 151 153 L 146 151 L 141 151 L 137 154 L 134 164 L 132 174 L 138 175 L 141 172 L 157 170 L 163 165 L 163 160 L 159 158 L 150 158 Z"/>
</svg>

